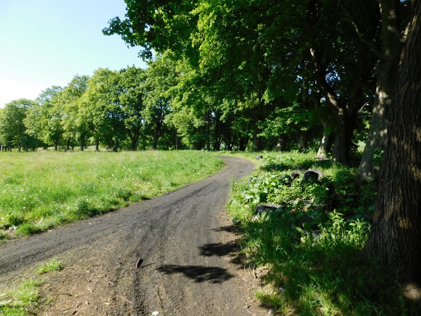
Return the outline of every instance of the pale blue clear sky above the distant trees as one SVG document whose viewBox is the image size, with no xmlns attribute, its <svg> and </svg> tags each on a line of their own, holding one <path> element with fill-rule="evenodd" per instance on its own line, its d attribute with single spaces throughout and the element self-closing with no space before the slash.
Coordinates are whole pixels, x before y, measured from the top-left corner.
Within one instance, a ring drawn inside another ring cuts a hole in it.
<svg viewBox="0 0 421 316">
<path fill-rule="evenodd" d="M 102 35 L 124 0 L 0 0 L 0 107 L 97 68 L 146 68 L 139 47 Z"/>
</svg>

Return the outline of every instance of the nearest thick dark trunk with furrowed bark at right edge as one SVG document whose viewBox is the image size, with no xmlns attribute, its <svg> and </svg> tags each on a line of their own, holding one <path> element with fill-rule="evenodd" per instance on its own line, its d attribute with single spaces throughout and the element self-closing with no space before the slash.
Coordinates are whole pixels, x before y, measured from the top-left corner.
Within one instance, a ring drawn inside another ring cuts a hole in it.
<svg viewBox="0 0 421 316">
<path fill-rule="evenodd" d="M 390 106 L 376 214 L 366 253 L 421 301 L 421 1 L 402 52 Z"/>
</svg>

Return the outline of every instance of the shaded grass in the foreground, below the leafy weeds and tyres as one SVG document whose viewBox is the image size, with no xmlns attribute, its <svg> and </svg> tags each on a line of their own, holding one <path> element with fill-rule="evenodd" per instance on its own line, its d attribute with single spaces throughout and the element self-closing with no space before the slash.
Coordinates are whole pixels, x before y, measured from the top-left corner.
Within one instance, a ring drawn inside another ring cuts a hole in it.
<svg viewBox="0 0 421 316">
<path fill-rule="evenodd" d="M 254 263 L 270 264 L 263 280 L 280 289 L 257 294 L 263 304 L 281 315 L 290 306 L 297 315 L 419 315 L 381 265 L 361 255 L 356 237 L 341 235 L 345 226 L 313 240 L 291 230 L 292 221 L 273 216 L 242 226 Z"/>
</svg>

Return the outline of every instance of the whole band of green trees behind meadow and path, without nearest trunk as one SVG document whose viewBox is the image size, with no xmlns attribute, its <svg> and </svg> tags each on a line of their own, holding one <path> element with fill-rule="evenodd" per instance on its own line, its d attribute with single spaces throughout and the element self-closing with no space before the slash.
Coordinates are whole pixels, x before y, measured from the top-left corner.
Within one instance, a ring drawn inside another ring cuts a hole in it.
<svg viewBox="0 0 421 316">
<path fill-rule="evenodd" d="M 142 46 L 144 58 L 157 52 L 148 70 L 98 69 L 49 88 L 25 119 L 27 142 L 1 133 L 2 143 L 318 148 L 346 163 L 363 141 L 359 178 L 378 173 L 409 1 L 126 4 L 126 19 L 103 32 Z"/>
</svg>

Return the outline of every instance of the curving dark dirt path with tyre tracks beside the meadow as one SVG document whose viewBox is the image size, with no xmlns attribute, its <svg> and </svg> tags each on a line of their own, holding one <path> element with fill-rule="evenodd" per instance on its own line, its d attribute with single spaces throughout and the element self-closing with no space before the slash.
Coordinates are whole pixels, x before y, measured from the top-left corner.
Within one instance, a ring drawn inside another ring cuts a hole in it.
<svg viewBox="0 0 421 316">
<path fill-rule="evenodd" d="M 0 291 L 59 258 L 66 269 L 43 277 L 42 295 L 53 299 L 38 315 L 266 315 L 224 211 L 230 179 L 254 165 L 222 159 L 226 167 L 204 181 L 0 244 Z"/>
</svg>

